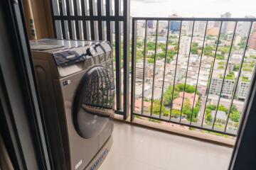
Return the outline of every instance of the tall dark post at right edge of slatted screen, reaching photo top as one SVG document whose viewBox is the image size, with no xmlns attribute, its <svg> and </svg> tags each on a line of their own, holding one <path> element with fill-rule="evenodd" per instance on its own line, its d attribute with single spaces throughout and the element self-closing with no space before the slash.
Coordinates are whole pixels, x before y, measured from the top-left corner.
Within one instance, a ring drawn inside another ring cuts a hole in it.
<svg viewBox="0 0 256 170">
<path fill-rule="evenodd" d="M 129 0 L 123 1 L 124 8 L 124 119 L 129 115 Z"/>
</svg>

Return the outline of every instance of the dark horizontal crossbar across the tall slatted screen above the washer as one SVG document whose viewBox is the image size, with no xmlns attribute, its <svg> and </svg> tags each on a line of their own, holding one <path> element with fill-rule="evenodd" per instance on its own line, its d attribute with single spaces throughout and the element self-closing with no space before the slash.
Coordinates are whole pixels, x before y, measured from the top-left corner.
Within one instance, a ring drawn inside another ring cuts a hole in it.
<svg viewBox="0 0 256 170">
<path fill-rule="evenodd" d="M 124 16 L 53 16 L 58 21 L 124 21 Z"/>
</svg>

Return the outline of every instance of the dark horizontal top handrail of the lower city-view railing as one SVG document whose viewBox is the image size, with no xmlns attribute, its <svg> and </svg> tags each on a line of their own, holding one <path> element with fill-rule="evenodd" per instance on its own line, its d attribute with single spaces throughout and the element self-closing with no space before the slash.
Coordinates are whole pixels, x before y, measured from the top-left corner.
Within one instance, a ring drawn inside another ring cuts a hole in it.
<svg viewBox="0 0 256 170">
<path fill-rule="evenodd" d="M 255 22 L 256 18 L 158 18 L 158 17 L 133 17 L 132 20 L 158 20 L 158 21 L 248 21 Z"/>
</svg>

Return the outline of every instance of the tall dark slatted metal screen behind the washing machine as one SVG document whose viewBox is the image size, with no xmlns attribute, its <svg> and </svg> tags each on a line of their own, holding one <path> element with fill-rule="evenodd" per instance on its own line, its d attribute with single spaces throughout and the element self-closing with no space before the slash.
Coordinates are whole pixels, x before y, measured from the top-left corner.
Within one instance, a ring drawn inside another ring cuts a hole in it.
<svg viewBox="0 0 256 170">
<path fill-rule="evenodd" d="M 127 118 L 129 108 L 129 1 L 52 0 L 52 16 L 55 38 L 112 42 L 116 77 L 116 113 Z M 123 77 L 123 88 L 121 77 Z"/>
</svg>

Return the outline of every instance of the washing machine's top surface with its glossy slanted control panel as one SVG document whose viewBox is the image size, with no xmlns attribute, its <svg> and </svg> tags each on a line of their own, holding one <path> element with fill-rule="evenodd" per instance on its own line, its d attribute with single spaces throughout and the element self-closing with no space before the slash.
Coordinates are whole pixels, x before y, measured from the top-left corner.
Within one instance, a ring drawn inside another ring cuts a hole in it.
<svg viewBox="0 0 256 170">
<path fill-rule="evenodd" d="M 34 52 L 47 52 L 57 66 L 67 66 L 112 51 L 110 42 L 88 40 L 42 39 L 30 42 Z"/>
</svg>

